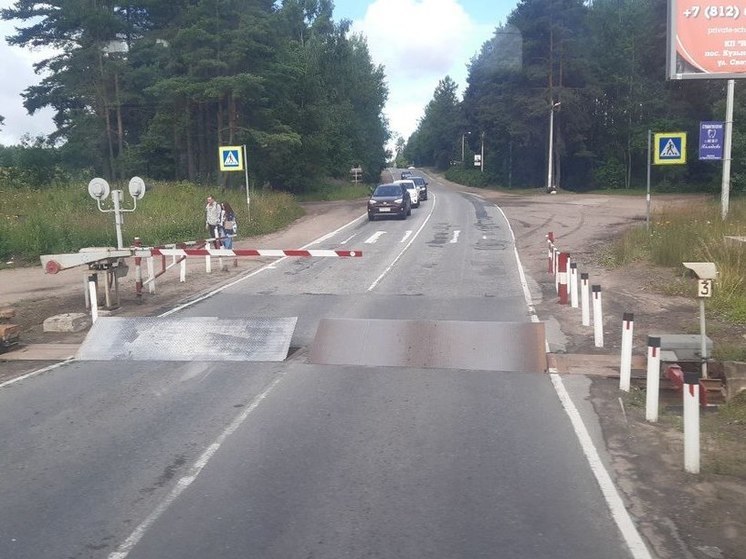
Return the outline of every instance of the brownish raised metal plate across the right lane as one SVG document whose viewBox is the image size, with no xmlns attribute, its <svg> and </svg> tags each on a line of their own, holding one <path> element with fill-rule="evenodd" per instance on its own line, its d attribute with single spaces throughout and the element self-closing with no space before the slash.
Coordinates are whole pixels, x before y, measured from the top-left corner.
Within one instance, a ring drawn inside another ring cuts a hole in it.
<svg viewBox="0 0 746 559">
<path fill-rule="evenodd" d="M 545 372 L 541 322 L 322 319 L 309 361 L 484 371 Z"/>
</svg>

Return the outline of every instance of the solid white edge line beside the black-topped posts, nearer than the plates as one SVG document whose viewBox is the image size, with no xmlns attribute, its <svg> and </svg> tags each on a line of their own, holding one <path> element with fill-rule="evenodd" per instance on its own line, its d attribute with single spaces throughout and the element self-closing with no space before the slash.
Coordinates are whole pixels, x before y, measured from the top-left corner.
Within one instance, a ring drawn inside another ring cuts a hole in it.
<svg viewBox="0 0 746 559">
<path fill-rule="evenodd" d="M 609 511 L 611 512 L 614 522 L 616 522 L 624 541 L 627 543 L 627 547 L 629 547 L 632 557 L 634 559 L 652 559 L 652 555 L 645 546 L 645 542 L 642 540 L 642 536 L 640 536 L 640 532 L 637 530 L 634 522 L 632 522 L 632 518 L 627 512 L 627 509 L 624 506 L 624 501 L 622 501 L 619 492 L 614 486 L 614 482 L 612 481 L 609 472 L 606 471 L 603 462 L 601 462 L 598 451 L 593 445 L 593 440 L 588 434 L 583 419 L 580 417 L 580 412 L 578 412 L 575 404 L 573 404 L 572 399 L 562 382 L 562 377 L 556 373 L 550 375 L 550 377 L 554 389 L 557 392 L 557 396 L 559 396 L 560 402 L 562 403 L 562 407 L 565 408 L 565 412 L 570 418 L 570 423 L 572 423 L 575 435 L 578 437 L 580 446 L 583 448 L 583 453 L 588 459 L 588 465 L 591 467 L 591 471 L 596 477 L 596 481 L 601 488 L 601 493 L 603 493 L 603 496 L 606 499 Z"/>
</svg>

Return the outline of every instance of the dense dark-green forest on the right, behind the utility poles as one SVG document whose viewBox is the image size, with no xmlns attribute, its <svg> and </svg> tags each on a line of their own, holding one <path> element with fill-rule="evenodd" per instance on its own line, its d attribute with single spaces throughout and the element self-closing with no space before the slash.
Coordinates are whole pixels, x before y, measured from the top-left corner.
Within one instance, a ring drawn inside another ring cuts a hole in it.
<svg viewBox="0 0 746 559">
<path fill-rule="evenodd" d="M 440 81 L 401 155 L 483 181 L 569 190 L 644 186 L 648 130 L 687 132 L 686 165 L 660 189 L 720 188 L 722 164 L 697 158 L 699 122 L 725 120 L 726 80 L 667 81 L 666 0 L 521 0 L 470 61 L 466 90 Z M 736 82 L 731 187 L 746 190 L 746 85 Z M 553 108 L 552 108 L 553 107 Z M 551 113 L 551 111 L 554 111 Z"/>
</svg>

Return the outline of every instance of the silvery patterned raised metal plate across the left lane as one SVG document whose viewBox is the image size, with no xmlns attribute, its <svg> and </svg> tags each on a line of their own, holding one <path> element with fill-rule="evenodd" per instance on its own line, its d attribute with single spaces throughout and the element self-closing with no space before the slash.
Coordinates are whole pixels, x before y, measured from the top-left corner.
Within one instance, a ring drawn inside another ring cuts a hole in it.
<svg viewBox="0 0 746 559">
<path fill-rule="evenodd" d="M 297 317 L 100 317 L 76 359 L 284 361 Z"/>
</svg>

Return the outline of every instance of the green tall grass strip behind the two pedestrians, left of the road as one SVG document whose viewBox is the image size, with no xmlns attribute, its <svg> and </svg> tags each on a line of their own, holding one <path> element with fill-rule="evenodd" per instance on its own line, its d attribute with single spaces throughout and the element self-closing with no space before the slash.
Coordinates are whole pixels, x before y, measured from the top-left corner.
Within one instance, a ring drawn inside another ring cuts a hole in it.
<svg viewBox="0 0 746 559">
<path fill-rule="evenodd" d="M 303 215 L 296 199 L 283 192 L 251 192 L 248 206 L 246 193 L 237 190 L 179 182 L 148 183 L 147 188 L 136 210 L 123 213 L 125 246 L 134 237 L 140 237 L 146 246 L 204 239 L 204 207 L 209 194 L 231 204 L 239 237 L 277 231 Z M 43 191 L 0 187 L 0 197 L 0 263 L 36 264 L 42 254 L 117 244 L 113 212 L 100 212 L 85 186 Z M 113 209 L 111 198 L 102 207 Z M 126 190 L 123 208 L 133 208 Z"/>
</svg>

